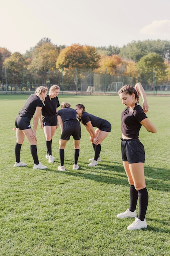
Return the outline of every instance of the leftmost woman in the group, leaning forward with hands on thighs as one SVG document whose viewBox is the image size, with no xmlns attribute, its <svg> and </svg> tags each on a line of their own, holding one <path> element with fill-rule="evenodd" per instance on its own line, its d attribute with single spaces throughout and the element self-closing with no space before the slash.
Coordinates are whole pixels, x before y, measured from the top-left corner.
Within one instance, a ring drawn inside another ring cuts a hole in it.
<svg viewBox="0 0 170 256">
<path fill-rule="evenodd" d="M 38 161 L 37 139 L 36 139 L 38 119 L 40 119 L 40 116 L 41 116 L 41 110 L 44 104 L 47 91 L 48 89 L 45 88 L 44 86 L 38 87 L 37 90 L 35 91 L 35 94 L 31 94 L 30 97 L 27 99 L 26 103 L 24 104 L 24 107 L 19 112 L 15 120 L 15 127 L 17 128 L 16 130 L 17 142 L 15 144 L 16 162 L 14 164 L 14 167 L 26 166 L 26 164 L 24 164 L 20 160 L 21 146 L 24 142 L 24 137 L 26 136 L 27 139 L 29 140 L 29 143 L 31 144 L 31 155 L 34 160 L 33 169 L 47 168 L 46 166 L 41 164 L 41 162 Z M 30 125 L 30 121 L 32 117 L 33 117 L 33 130 Z"/>
</svg>

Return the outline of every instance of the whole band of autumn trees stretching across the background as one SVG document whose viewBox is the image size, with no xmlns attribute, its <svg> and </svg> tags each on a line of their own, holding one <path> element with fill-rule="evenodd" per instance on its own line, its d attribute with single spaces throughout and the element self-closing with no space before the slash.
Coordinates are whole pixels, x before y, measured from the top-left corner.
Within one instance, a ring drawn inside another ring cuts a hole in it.
<svg viewBox="0 0 170 256">
<path fill-rule="evenodd" d="M 170 41 L 132 41 L 123 47 L 54 45 L 42 38 L 25 54 L 0 47 L 0 83 L 33 90 L 36 84 L 58 84 L 79 89 L 80 70 L 113 76 L 129 76 L 145 85 L 170 84 Z"/>
</svg>

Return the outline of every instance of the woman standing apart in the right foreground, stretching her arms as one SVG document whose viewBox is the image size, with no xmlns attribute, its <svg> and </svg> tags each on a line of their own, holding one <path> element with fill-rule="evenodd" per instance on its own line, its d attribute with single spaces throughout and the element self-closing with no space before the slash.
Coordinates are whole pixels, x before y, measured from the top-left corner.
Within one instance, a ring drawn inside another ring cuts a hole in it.
<svg viewBox="0 0 170 256">
<path fill-rule="evenodd" d="M 139 141 L 139 130 L 142 125 L 148 132 L 155 133 L 157 129 L 137 103 L 139 96 L 132 85 L 123 86 L 118 94 L 122 104 L 126 106 L 121 113 L 121 155 L 130 184 L 130 207 L 125 212 L 117 214 L 117 218 L 136 217 L 139 197 L 138 217 L 127 229 L 142 229 L 147 227 L 145 215 L 148 207 L 148 191 L 144 175 L 145 151 Z"/>
</svg>

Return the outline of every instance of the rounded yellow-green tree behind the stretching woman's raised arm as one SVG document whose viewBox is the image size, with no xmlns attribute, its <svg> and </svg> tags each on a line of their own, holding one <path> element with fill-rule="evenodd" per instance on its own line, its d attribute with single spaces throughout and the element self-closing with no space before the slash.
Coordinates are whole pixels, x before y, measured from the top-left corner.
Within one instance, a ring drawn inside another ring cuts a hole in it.
<svg viewBox="0 0 170 256">
<path fill-rule="evenodd" d="M 154 81 L 157 85 L 164 83 L 164 78 L 167 75 L 167 65 L 161 55 L 155 52 L 149 53 L 140 59 L 137 67 L 139 68 L 142 83 L 149 83 L 150 85 Z"/>
</svg>

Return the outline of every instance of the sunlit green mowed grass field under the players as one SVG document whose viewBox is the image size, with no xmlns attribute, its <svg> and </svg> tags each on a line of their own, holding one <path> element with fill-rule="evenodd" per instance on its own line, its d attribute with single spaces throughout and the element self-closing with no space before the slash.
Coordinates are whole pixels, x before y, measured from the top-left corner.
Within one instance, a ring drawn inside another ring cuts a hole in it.
<svg viewBox="0 0 170 256">
<path fill-rule="evenodd" d="M 170 98 L 148 97 L 147 116 L 157 133 L 141 128 L 149 193 L 148 228 L 128 231 L 134 219 L 118 219 L 129 207 L 129 184 L 121 162 L 119 96 L 60 95 L 60 103 L 83 103 L 86 111 L 110 121 L 102 143 L 102 162 L 88 167 L 94 156 L 89 134 L 82 127 L 79 170 L 73 171 L 73 138 L 65 149 L 66 171 L 59 166 L 60 128 L 53 137 L 49 164 L 43 130 L 38 127 L 38 157 L 46 170 L 33 170 L 25 139 L 14 168 L 15 117 L 28 95 L 0 95 L 0 256 L 169 256 L 170 255 Z M 140 103 L 141 103 L 140 99 Z M 31 121 L 31 124 L 33 122 Z M 138 206 L 137 206 L 138 212 Z"/>
</svg>

